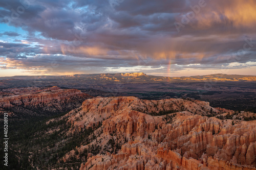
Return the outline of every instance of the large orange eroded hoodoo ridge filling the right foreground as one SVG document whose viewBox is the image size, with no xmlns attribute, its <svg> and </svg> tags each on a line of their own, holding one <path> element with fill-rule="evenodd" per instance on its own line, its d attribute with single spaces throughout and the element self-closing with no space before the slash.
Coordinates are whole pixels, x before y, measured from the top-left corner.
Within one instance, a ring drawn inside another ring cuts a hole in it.
<svg viewBox="0 0 256 170">
<path fill-rule="evenodd" d="M 102 123 L 90 143 L 101 154 L 80 170 L 256 169 L 256 121 L 208 117 L 225 111 L 182 99 L 93 98 L 68 113 L 68 121 L 70 133 Z"/>
</svg>

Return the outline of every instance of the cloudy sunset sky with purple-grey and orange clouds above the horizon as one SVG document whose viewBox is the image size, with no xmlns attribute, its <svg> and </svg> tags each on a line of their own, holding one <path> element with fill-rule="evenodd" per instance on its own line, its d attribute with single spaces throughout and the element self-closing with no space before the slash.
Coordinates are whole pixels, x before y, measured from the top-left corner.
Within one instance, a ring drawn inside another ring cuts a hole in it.
<svg viewBox="0 0 256 170">
<path fill-rule="evenodd" d="M 1 0 L 0 76 L 256 75 L 254 0 Z"/>
</svg>

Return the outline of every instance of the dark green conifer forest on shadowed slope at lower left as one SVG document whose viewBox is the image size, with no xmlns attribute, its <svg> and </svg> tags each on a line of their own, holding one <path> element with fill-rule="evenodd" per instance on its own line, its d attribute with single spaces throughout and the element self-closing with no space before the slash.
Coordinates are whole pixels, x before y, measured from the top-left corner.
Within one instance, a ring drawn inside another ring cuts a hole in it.
<svg viewBox="0 0 256 170">
<path fill-rule="evenodd" d="M 102 124 L 94 124 L 93 127 L 84 129 L 82 132 L 74 130 L 74 133 L 67 133 L 70 129 L 74 129 L 70 123 L 67 123 L 67 118 L 62 117 L 65 113 L 45 117 L 33 117 L 27 120 L 11 120 L 9 119 L 9 167 L 8 169 L 52 169 L 58 167 L 67 167 L 79 169 L 82 161 L 86 161 L 87 154 L 98 154 L 99 148 L 92 146 L 91 151 L 83 151 L 80 153 L 79 160 L 72 157 L 69 161 L 63 162 L 62 158 L 66 153 L 75 150 L 75 154 L 79 152 L 76 146 L 81 144 L 89 144 L 93 139 L 89 137 Z M 50 119 L 54 118 L 51 122 Z M 3 130 L 1 129 L 0 133 Z M 1 142 L 2 139 L 1 139 Z M 4 151 L 0 153 L 3 155 Z M 0 164 L 4 167 L 3 161 Z M 5 168 L 5 167 L 4 167 Z"/>
</svg>

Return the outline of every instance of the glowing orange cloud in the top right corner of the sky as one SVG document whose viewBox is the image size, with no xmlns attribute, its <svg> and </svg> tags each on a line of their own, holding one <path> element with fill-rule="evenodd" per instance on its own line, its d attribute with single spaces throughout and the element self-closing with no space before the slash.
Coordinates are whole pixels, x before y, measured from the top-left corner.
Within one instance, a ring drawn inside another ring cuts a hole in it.
<svg viewBox="0 0 256 170">
<path fill-rule="evenodd" d="M 194 29 L 209 29 L 217 24 L 235 28 L 254 28 L 256 24 L 256 1 L 227 0 L 206 1 L 206 6 L 189 19 L 188 25 Z M 194 4 L 197 5 L 197 4 Z M 192 5 L 192 6 L 194 6 Z M 192 11 L 189 8 L 190 11 Z M 187 11 L 188 12 L 188 11 Z M 188 16 L 189 13 L 185 13 Z M 184 18 L 184 17 L 183 17 Z M 178 21 L 181 22 L 180 16 Z"/>
</svg>

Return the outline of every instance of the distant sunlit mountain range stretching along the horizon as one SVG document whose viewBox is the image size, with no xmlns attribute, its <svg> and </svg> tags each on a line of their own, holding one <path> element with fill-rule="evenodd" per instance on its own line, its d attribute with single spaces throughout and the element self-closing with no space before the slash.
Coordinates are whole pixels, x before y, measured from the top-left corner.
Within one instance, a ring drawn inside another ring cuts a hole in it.
<svg viewBox="0 0 256 170">
<path fill-rule="evenodd" d="M 12 76 L 12 77 L 0 77 L 0 80 L 63 80 L 63 79 L 88 79 L 88 80 L 105 80 L 122 82 L 122 80 L 132 79 L 141 81 L 204 81 L 204 80 L 216 80 L 216 81 L 256 81 L 256 76 L 249 75 L 225 75 L 225 74 L 213 74 L 205 76 L 190 76 L 190 77 L 163 77 L 163 76 L 151 76 L 146 75 L 143 72 L 132 73 L 117 73 L 117 74 L 78 74 L 78 75 L 66 75 L 66 76 Z"/>
</svg>

